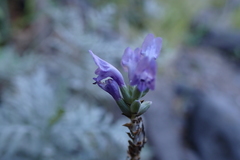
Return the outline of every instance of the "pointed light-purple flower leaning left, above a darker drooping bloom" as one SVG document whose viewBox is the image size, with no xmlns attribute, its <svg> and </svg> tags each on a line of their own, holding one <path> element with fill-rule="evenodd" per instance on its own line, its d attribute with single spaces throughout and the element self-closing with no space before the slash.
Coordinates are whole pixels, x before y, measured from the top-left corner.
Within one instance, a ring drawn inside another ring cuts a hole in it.
<svg viewBox="0 0 240 160">
<path fill-rule="evenodd" d="M 119 87 L 125 86 L 122 74 L 114 66 L 96 56 L 92 51 L 89 52 L 92 55 L 96 65 L 98 66 L 95 71 L 95 74 L 98 75 L 98 77 L 95 78 L 98 84 L 101 83 L 101 80 L 111 77 L 114 81 L 117 82 Z"/>
</svg>

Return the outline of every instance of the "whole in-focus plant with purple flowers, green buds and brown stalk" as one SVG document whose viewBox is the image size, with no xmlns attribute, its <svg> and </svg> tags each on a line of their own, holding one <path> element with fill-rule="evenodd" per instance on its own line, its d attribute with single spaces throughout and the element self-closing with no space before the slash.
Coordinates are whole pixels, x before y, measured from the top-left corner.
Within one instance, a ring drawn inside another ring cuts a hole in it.
<svg viewBox="0 0 240 160">
<path fill-rule="evenodd" d="M 162 38 L 148 34 L 140 48 L 126 48 L 121 65 L 128 72 L 126 85 L 122 74 L 110 63 L 89 51 L 98 68 L 94 84 L 108 92 L 118 104 L 122 114 L 130 119 L 124 124 L 129 129 L 127 160 L 140 160 L 140 153 L 146 143 L 143 119 L 141 117 L 151 106 L 151 101 L 142 98 L 154 90 L 157 73 L 156 58 L 162 47 Z"/>
</svg>

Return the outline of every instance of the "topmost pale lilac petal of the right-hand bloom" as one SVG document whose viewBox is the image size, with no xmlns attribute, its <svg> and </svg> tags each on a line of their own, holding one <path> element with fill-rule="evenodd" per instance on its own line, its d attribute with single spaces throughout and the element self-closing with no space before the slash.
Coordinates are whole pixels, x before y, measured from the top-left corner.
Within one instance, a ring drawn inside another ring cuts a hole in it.
<svg viewBox="0 0 240 160">
<path fill-rule="evenodd" d="M 162 48 L 162 38 L 155 38 L 153 34 L 148 34 L 142 44 L 142 54 L 151 58 L 157 58 Z"/>
</svg>

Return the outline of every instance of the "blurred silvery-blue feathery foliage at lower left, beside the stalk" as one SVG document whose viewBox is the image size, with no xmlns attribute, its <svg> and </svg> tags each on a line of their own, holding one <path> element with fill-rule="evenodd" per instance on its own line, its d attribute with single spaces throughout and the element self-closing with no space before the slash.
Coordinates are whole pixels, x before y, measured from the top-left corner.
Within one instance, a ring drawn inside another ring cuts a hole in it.
<svg viewBox="0 0 240 160">
<path fill-rule="evenodd" d="M 126 135 L 122 121 L 81 99 L 61 106 L 43 68 L 12 81 L 0 108 L 0 158 L 123 159 Z M 52 123 L 59 110 L 63 110 Z M 115 153 L 118 154 L 115 154 Z"/>
</svg>

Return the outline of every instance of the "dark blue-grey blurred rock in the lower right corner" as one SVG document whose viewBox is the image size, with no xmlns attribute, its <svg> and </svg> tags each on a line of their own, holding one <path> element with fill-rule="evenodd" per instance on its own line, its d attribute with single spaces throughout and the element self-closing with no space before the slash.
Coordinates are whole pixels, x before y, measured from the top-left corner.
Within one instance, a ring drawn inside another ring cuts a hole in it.
<svg viewBox="0 0 240 160">
<path fill-rule="evenodd" d="M 177 94 L 188 102 L 184 134 L 188 146 L 203 160 L 239 160 L 240 112 L 183 87 Z"/>
</svg>

